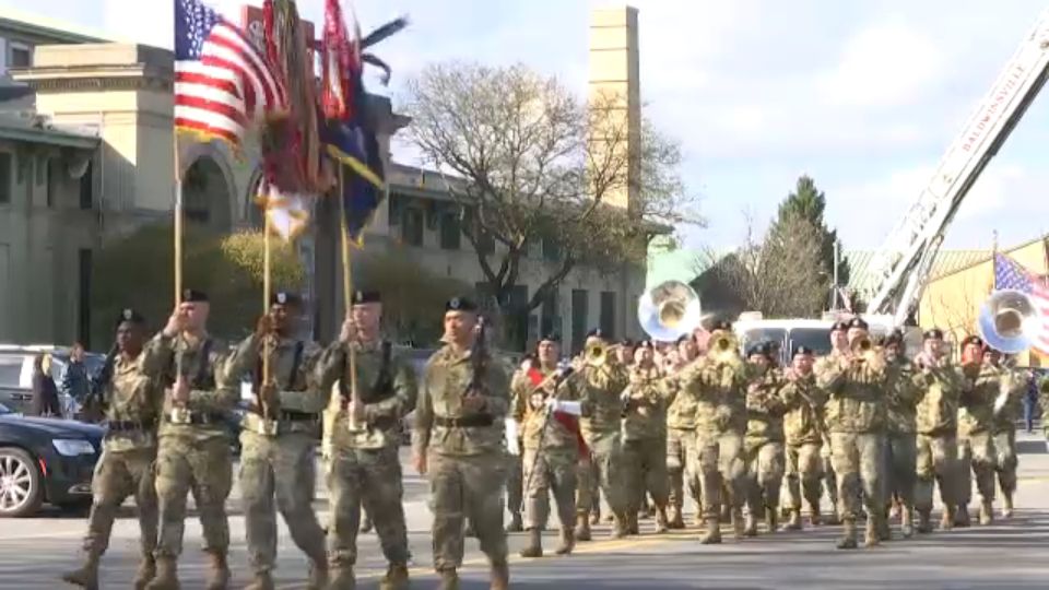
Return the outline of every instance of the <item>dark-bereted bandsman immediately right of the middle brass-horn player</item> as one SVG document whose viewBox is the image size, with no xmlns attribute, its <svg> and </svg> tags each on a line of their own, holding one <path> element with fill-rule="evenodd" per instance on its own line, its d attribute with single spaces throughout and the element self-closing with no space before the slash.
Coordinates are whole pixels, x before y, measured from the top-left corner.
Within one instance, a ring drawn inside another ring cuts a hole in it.
<svg viewBox="0 0 1049 590">
<path fill-rule="evenodd" d="M 774 367 L 775 347 L 763 342 L 747 351 L 751 368 L 746 387 L 746 435 L 743 440 L 746 463 L 747 514 L 743 534 L 757 535 L 757 519 L 765 516 L 768 532 L 776 532 L 779 489 L 783 484 L 783 415 L 788 406 L 780 397 L 783 386 Z"/>
</svg>

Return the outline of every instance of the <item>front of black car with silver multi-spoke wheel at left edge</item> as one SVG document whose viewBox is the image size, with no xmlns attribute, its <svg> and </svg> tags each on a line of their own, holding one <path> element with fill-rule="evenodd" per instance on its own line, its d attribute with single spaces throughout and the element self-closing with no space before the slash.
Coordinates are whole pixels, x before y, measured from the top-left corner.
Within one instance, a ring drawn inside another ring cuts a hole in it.
<svg viewBox="0 0 1049 590">
<path fill-rule="evenodd" d="M 0 518 L 33 516 L 44 503 L 90 504 L 104 435 L 94 424 L 27 417 L 0 404 Z"/>
</svg>

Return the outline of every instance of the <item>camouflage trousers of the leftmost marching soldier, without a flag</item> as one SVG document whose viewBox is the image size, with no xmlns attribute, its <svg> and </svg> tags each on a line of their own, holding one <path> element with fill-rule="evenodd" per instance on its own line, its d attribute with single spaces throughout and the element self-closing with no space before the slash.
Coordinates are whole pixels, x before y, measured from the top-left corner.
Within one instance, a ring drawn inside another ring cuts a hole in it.
<svg viewBox="0 0 1049 590">
<path fill-rule="evenodd" d="M 139 514 L 139 546 L 142 555 L 156 548 L 157 514 L 156 487 L 153 477 L 156 447 L 110 450 L 103 446 L 91 480 L 91 515 L 84 553 L 101 556 L 109 547 L 109 534 L 120 505 L 134 496 Z"/>
</svg>

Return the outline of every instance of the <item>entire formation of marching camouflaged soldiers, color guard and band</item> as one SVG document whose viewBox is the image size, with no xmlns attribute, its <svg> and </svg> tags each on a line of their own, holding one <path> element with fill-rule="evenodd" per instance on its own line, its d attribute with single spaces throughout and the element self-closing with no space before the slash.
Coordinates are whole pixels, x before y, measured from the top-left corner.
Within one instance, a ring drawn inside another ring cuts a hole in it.
<svg viewBox="0 0 1049 590">
<path fill-rule="evenodd" d="M 780 367 L 769 342 L 741 354 L 727 321 L 676 342 L 613 343 L 593 330 L 570 363 L 556 334 L 542 337 L 511 376 L 486 344 L 478 305 L 457 297 L 446 305 L 444 346 L 416 375 L 380 335 L 380 294 L 354 292 L 339 339 L 325 349 L 295 338 L 300 306 L 294 294 L 274 294 L 254 333 L 233 346 L 209 335 L 200 292 L 184 293 L 151 339 L 144 318 L 123 311 L 96 382 L 108 434 L 84 562 L 66 581 L 98 588 L 117 510 L 133 496 L 134 588 L 179 588 L 191 493 L 207 588 L 228 588 L 234 461 L 221 424 L 238 404 L 248 410 L 238 477 L 251 590 L 274 587 L 278 511 L 308 559 L 308 588 L 355 588 L 363 511 L 389 564 L 380 588 L 409 587 L 398 449 L 399 424 L 413 411 L 412 461 L 429 482 L 443 589 L 459 587 L 470 535 L 491 563 L 491 587 L 507 588 L 507 533 L 524 532 L 521 556 L 541 557 L 551 496 L 559 555 L 591 540 L 601 496 L 618 539 L 639 534 L 649 515 L 657 533 L 684 529 L 687 493 L 704 544 L 721 542 L 722 524 L 736 539 L 800 530 L 804 509 L 811 527 L 841 526 L 842 550 L 859 545 L 861 523 L 865 546 L 889 540 L 893 519 L 905 539 L 930 533 L 934 488 L 940 529 L 967 527 L 973 480 L 980 524 L 994 520 L 999 487 L 1000 514 L 1012 515 L 1014 423 L 1029 376 L 979 337 L 962 343 L 955 363 L 942 331 L 928 330 L 910 359 L 899 332 L 872 339 L 854 317 L 834 324 L 829 354 L 798 346 Z M 318 438 L 327 528 L 311 506 Z M 830 514 L 821 510 L 827 505 Z"/>
</svg>

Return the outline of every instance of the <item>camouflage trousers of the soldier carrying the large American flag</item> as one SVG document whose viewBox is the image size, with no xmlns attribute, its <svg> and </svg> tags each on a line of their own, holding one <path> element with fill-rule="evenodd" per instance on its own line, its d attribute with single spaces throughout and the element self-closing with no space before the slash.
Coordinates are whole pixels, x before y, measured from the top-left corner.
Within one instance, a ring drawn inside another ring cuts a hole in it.
<svg viewBox="0 0 1049 590">
<path fill-rule="evenodd" d="M 162 436 L 156 451 L 156 497 L 161 529 L 157 557 L 178 557 L 182 553 L 186 496 L 193 494 L 204 551 L 225 554 L 229 548 L 229 522 L 226 498 L 233 485 L 233 459 L 225 436 L 203 440 L 184 436 Z"/>
</svg>

